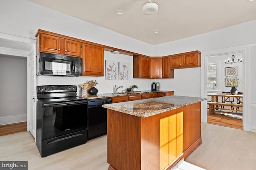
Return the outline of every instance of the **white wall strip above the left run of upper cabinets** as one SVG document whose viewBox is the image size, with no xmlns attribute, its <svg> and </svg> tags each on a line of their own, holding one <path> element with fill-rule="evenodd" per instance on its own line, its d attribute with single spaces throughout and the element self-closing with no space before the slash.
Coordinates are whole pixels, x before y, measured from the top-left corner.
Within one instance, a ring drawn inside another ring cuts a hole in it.
<svg viewBox="0 0 256 170">
<path fill-rule="evenodd" d="M 36 39 L 38 29 L 153 55 L 153 45 L 40 6 L 28 0 L 1 0 L 0 32 Z"/>
</svg>

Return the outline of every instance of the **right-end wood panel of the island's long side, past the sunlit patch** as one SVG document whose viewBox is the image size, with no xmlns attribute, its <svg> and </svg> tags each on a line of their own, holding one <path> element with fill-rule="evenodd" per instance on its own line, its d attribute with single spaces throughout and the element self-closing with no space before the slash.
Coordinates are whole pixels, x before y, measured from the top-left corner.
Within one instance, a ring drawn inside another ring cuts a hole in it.
<svg viewBox="0 0 256 170">
<path fill-rule="evenodd" d="M 201 102 L 183 107 L 183 152 L 201 137 Z"/>
</svg>

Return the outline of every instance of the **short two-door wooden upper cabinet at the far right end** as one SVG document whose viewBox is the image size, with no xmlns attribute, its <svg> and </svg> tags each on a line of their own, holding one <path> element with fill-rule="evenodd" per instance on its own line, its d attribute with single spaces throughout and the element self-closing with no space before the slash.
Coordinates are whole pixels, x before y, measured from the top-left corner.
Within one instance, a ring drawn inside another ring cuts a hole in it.
<svg viewBox="0 0 256 170">
<path fill-rule="evenodd" d="M 170 55 L 170 68 L 192 68 L 201 66 L 201 52 L 191 51 L 188 53 L 181 53 Z"/>
</svg>

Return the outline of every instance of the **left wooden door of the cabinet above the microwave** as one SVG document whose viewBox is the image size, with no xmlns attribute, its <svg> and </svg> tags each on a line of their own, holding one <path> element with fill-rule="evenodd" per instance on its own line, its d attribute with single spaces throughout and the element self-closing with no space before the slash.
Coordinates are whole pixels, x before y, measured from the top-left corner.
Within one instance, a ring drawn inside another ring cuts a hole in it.
<svg viewBox="0 0 256 170">
<path fill-rule="evenodd" d="M 41 34 L 40 52 L 61 53 L 60 37 Z"/>
</svg>

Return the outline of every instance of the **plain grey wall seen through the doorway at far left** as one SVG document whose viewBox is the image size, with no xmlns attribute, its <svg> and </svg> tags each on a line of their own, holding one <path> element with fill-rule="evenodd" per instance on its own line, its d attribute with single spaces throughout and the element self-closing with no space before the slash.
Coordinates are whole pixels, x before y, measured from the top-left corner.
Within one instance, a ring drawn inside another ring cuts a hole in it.
<svg viewBox="0 0 256 170">
<path fill-rule="evenodd" d="M 0 125 L 27 120 L 27 58 L 0 54 Z"/>
</svg>

